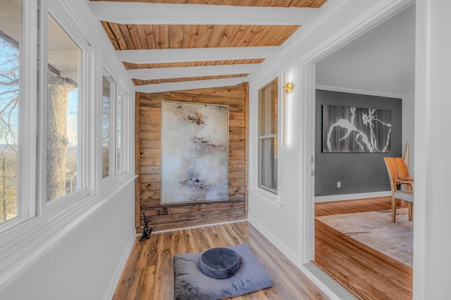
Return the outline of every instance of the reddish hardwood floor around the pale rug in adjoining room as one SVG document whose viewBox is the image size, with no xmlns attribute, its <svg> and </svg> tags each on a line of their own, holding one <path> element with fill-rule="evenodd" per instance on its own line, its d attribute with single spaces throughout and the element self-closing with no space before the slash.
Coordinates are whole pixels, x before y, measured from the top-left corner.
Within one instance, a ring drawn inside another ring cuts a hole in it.
<svg viewBox="0 0 451 300">
<path fill-rule="evenodd" d="M 390 208 L 390 197 L 327 202 L 315 204 L 315 216 Z M 412 299 L 412 267 L 316 220 L 314 263 L 359 299 Z"/>
</svg>

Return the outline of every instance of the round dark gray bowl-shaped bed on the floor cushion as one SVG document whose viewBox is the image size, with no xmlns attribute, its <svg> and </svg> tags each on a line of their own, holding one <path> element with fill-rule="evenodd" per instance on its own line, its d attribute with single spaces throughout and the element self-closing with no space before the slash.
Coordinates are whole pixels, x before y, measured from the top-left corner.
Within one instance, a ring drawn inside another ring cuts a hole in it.
<svg viewBox="0 0 451 300">
<path fill-rule="evenodd" d="M 240 268 L 240 256 L 228 248 L 213 248 L 202 253 L 200 269 L 205 275 L 226 279 L 232 277 Z"/>
</svg>

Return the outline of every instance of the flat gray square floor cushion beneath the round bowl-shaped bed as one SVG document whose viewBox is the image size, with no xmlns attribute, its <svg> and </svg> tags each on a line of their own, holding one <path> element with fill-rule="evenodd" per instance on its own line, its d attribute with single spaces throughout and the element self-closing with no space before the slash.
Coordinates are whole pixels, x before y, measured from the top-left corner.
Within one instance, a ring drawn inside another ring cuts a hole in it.
<svg viewBox="0 0 451 300">
<path fill-rule="evenodd" d="M 211 278 L 200 270 L 202 252 L 174 255 L 174 298 L 210 300 L 240 296 L 272 287 L 273 280 L 247 244 L 226 247 L 240 255 L 240 268 L 230 278 Z"/>
</svg>

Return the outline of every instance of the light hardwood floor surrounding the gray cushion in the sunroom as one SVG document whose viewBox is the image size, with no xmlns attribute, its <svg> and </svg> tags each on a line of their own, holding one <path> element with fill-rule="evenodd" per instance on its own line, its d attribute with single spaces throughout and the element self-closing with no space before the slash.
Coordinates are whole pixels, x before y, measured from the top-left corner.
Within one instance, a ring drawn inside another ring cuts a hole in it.
<svg viewBox="0 0 451 300">
<path fill-rule="evenodd" d="M 328 299 L 293 263 L 247 221 L 202 228 L 152 233 L 149 240 L 135 241 L 115 300 L 174 299 L 173 255 L 201 252 L 213 247 L 249 244 L 273 279 L 273 287 L 237 296 L 235 300 Z"/>
</svg>

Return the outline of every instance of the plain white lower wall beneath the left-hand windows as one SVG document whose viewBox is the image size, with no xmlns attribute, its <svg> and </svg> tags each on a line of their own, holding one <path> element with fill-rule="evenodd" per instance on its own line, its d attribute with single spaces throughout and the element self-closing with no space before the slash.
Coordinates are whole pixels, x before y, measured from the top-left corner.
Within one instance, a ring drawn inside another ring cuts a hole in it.
<svg viewBox="0 0 451 300">
<path fill-rule="evenodd" d="M 0 299 L 111 299 L 136 237 L 134 195 L 129 180 L 16 275 Z"/>
</svg>

